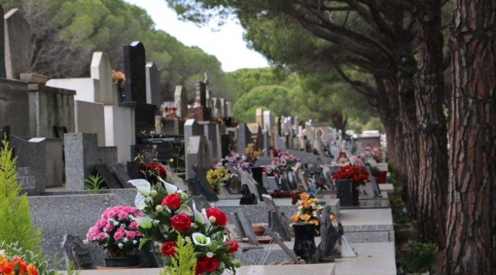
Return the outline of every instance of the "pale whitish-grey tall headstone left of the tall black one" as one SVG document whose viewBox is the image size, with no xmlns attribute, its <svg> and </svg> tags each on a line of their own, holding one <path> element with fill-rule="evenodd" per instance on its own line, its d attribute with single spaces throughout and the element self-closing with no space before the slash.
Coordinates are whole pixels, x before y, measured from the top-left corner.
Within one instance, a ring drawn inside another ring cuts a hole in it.
<svg viewBox="0 0 496 275">
<path fill-rule="evenodd" d="M 112 87 L 112 65 L 108 54 L 94 52 L 91 63 L 91 78 L 99 80 L 99 96 L 95 96 L 95 102 L 105 105 L 117 105 L 117 94 Z M 99 98 L 98 98 L 99 97 Z"/>
</svg>

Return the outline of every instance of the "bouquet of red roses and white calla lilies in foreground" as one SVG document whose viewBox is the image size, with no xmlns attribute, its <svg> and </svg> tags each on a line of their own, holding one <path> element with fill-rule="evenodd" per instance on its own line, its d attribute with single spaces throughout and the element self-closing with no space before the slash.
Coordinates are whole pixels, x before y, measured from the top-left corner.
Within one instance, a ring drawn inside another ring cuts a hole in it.
<svg viewBox="0 0 496 275">
<path fill-rule="evenodd" d="M 159 180 L 160 184 L 153 185 L 145 179 L 129 181 L 138 189 L 135 203 L 143 213 L 136 219 L 144 236 L 140 245 L 148 241 L 160 243 L 165 266 L 170 266 L 178 236 L 182 236 L 187 243 L 194 243 L 198 260 L 195 274 L 222 274 L 226 269 L 236 272 L 240 261 L 232 253 L 238 250 L 238 242 L 229 241 L 226 214 L 217 208 L 197 210 L 187 193 Z"/>
</svg>

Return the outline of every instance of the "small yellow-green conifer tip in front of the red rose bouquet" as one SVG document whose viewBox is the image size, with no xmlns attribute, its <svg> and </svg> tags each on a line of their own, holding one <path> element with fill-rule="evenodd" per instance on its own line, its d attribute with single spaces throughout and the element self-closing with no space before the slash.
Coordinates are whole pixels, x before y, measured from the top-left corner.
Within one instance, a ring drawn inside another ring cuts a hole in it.
<svg viewBox="0 0 496 275">
<path fill-rule="evenodd" d="M 194 275 L 196 267 L 196 254 L 193 241 L 186 242 L 178 236 L 176 254 L 172 256 L 170 266 L 165 266 L 160 275 Z"/>
</svg>

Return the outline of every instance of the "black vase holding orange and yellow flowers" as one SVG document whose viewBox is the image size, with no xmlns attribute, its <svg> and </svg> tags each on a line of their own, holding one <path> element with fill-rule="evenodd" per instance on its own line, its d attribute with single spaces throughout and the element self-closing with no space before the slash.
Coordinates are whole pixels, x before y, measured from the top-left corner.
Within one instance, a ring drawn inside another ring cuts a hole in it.
<svg viewBox="0 0 496 275">
<path fill-rule="evenodd" d="M 315 263 L 316 244 L 313 239 L 315 224 L 313 223 L 293 223 L 295 241 L 293 251 L 305 263 Z"/>
</svg>

